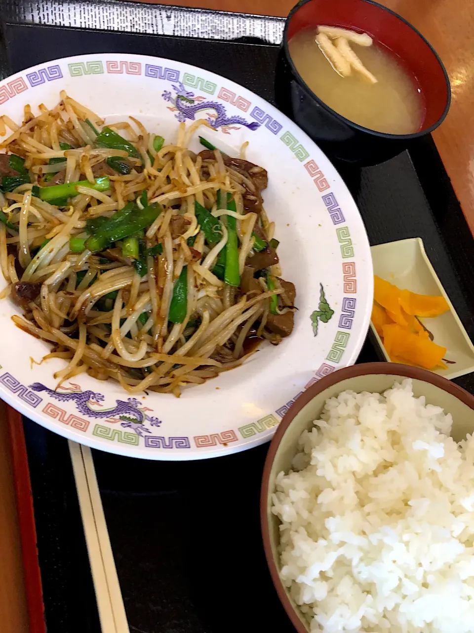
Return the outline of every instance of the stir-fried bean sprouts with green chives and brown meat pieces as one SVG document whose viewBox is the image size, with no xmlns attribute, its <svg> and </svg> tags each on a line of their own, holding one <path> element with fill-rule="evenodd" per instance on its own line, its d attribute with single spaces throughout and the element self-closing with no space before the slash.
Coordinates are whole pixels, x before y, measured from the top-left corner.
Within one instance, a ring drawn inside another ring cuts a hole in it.
<svg viewBox="0 0 474 633">
<path fill-rule="evenodd" d="M 231 158 L 200 137 L 195 154 L 204 120 L 164 139 L 60 97 L 21 126 L 0 117 L 1 297 L 51 342 L 43 360 L 66 360 L 54 377 L 179 396 L 291 334 L 295 286 L 246 144 Z"/>
</svg>

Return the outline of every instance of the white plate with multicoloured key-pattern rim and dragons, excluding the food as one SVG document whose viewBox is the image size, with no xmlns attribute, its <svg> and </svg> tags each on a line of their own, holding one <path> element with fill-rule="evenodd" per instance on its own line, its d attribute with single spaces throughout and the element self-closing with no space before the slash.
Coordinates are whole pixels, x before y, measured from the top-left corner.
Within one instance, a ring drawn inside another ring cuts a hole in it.
<svg viewBox="0 0 474 633">
<path fill-rule="evenodd" d="M 372 260 L 346 186 L 307 135 L 269 103 L 177 61 L 94 54 L 34 66 L 0 84 L 0 114 L 20 123 L 25 104 L 33 111 L 40 103 L 52 107 L 62 89 L 106 122 L 133 115 L 166 139 L 174 137 L 179 120 L 208 118 L 216 132 L 205 130 L 205 137 L 228 153 L 238 155 L 248 141 L 248 160 L 269 172 L 265 210 L 276 222 L 283 277 L 296 285 L 299 311 L 291 337 L 263 346 L 243 367 L 179 399 L 154 392 L 129 398 L 115 382 L 85 374 L 54 391 L 52 375 L 64 361 L 31 364 L 49 348 L 15 327 L 10 317 L 17 309 L 4 299 L 1 398 L 69 439 L 147 459 L 207 458 L 268 441 L 309 384 L 355 362 L 367 333 Z M 199 151 L 197 139 L 191 148 Z M 321 288 L 334 310 L 327 323 L 313 314 Z"/>
</svg>

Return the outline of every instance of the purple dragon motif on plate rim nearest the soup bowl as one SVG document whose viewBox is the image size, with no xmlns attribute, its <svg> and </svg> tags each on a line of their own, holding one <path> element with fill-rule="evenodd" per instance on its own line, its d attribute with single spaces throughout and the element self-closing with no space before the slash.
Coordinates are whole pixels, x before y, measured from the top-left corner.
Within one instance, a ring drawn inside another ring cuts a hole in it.
<svg viewBox="0 0 474 633">
<path fill-rule="evenodd" d="M 216 114 L 208 115 L 206 119 L 214 130 L 220 127 L 222 132 L 229 134 L 229 129 L 238 129 L 229 127 L 231 125 L 245 125 L 249 130 L 256 130 L 260 127 L 259 123 L 255 121 L 249 123 L 242 116 L 228 116 L 222 103 L 203 101 L 205 97 L 195 97 L 194 92 L 187 91 L 181 82 L 178 82 L 178 85 L 173 85 L 173 89 L 176 92 L 176 97 L 173 97 L 169 90 L 164 91 L 162 97 L 165 101 L 173 104 L 173 107 L 169 108 L 169 110 L 178 110 L 175 116 L 180 123 L 185 122 L 186 119 L 194 121 L 195 115 L 200 110 L 215 110 Z"/>
</svg>

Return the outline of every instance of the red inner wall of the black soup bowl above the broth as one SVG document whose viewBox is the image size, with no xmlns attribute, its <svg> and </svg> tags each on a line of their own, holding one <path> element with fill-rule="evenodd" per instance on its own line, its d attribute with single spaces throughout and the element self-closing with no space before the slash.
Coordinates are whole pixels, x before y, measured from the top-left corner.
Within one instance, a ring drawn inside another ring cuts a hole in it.
<svg viewBox="0 0 474 633">
<path fill-rule="evenodd" d="M 441 60 L 423 36 L 396 13 L 369 0 L 308 0 L 293 9 L 286 37 L 319 24 L 352 28 L 371 35 L 399 58 L 415 77 L 425 101 L 425 119 L 420 132 L 444 116 L 449 104 L 449 80 Z"/>
</svg>

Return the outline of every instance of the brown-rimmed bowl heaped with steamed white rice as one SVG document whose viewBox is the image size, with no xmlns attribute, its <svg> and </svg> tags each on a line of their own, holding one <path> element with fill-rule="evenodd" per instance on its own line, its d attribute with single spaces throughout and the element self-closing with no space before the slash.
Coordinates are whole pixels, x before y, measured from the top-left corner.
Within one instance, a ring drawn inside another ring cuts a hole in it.
<svg viewBox="0 0 474 633">
<path fill-rule="evenodd" d="M 299 633 L 474 632 L 474 396 L 344 368 L 284 416 L 262 481 L 272 580 Z"/>
</svg>

